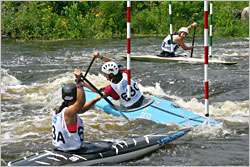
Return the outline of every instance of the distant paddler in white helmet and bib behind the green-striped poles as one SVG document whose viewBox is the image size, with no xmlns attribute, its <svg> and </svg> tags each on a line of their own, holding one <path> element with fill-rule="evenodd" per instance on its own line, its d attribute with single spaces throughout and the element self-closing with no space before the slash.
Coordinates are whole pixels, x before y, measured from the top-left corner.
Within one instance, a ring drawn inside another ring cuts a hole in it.
<svg viewBox="0 0 250 167">
<path fill-rule="evenodd" d="M 188 27 L 181 27 L 178 32 L 173 33 L 173 52 L 171 52 L 171 36 L 168 35 L 161 44 L 162 52 L 157 55 L 160 57 L 176 57 L 175 55 L 176 50 L 181 46 L 184 50 L 191 50 L 194 46 L 186 46 L 183 42 L 183 38 L 185 38 L 189 30 L 192 27 L 196 27 L 198 24 L 196 22 L 192 23 Z"/>
</svg>

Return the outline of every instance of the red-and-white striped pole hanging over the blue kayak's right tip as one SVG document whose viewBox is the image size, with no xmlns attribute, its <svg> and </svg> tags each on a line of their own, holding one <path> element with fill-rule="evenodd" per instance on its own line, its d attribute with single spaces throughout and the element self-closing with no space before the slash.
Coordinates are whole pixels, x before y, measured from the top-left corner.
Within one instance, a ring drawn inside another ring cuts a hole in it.
<svg viewBox="0 0 250 167">
<path fill-rule="evenodd" d="M 208 106 L 208 1 L 204 1 L 204 77 L 205 77 L 205 116 L 209 117 Z"/>
</svg>

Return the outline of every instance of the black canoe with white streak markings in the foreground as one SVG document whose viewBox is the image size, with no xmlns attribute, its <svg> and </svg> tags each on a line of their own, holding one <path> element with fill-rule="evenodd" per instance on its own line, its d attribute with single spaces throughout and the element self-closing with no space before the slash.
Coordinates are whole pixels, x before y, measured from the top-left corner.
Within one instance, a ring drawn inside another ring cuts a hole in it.
<svg viewBox="0 0 250 167">
<path fill-rule="evenodd" d="M 9 162 L 9 166 L 86 166 L 117 163 L 136 159 L 187 134 L 191 128 L 144 136 L 89 141 L 81 150 L 63 152 L 44 150 L 40 153 Z"/>
</svg>

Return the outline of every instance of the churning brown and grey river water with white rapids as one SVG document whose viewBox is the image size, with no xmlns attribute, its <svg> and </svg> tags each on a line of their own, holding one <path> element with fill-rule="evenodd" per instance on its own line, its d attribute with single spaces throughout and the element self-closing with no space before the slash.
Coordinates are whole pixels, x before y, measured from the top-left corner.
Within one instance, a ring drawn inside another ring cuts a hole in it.
<svg viewBox="0 0 250 167">
<path fill-rule="evenodd" d="M 132 55 L 160 52 L 162 37 L 131 38 Z M 191 45 L 191 38 L 185 39 Z M 111 166 L 231 166 L 249 165 L 249 39 L 214 39 L 213 58 L 236 65 L 209 64 L 209 111 L 223 125 L 196 127 L 168 146 L 136 160 Z M 196 38 L 194 57 L 204 55 Z M 182 51 L 187 55 L 190 51 Z M 94 51 L 126 67 L 126 39 L 81 41 L 3 41 L 1 46 L 1 158 L 6 162 L 52 148 L 51 117 L 60 105 L 61 87 L 73 82 L 73 70 L 88 68 Z M 98 88 L 109 84 L 96 60 L 88 79 Z M 204 116 L 204 65 L 194 63 L 131 63 L 132 78 L 144 94 L 171 99 Z M 149 120 L 127 122 L 92 108 L 82 114 L 85 140 L 147 134 L 161 127 Z M 2 164 L 4 165 L 4 164 Z"/>
</svg>

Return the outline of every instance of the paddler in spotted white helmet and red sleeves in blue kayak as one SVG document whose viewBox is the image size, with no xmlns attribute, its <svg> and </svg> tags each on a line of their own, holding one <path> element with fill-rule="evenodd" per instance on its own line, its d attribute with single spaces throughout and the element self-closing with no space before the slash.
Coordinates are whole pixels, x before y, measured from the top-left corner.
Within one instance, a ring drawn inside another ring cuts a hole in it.
<svg viewBox="0 0 250 167">
<path fill-rule="evenodd" d="M 95 52 L 93 56 L 106 62 L 102 66 L 102 72 L 104 73 L 106 79 L 112 82 L 110 85 L 100 89 L 104 96 L 110 96 L 114 100 L 119 100 L 120 104 L 127 109 L 141 106 L 144 96 L 138 85 L 132 79 L 131 98 L 127 98 L 127 74 L 124 72 L 125 70 L 120 69 L 121 66 L 117 65 L 115 62 L 112 62 L 109 58 L 101 56 L 99 52 Z M 84 86 L 96 92 L 90 86 Z"/>
</svg>

